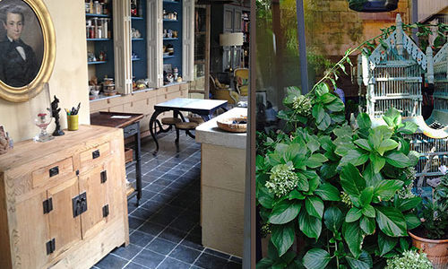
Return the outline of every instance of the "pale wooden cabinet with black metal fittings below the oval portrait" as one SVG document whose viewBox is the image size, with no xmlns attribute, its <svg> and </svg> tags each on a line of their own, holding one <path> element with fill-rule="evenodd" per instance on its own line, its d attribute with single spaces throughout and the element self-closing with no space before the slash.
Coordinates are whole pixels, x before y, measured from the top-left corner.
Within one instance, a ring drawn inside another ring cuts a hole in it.
<svg viewBox="0 0 448 269">
<path fill-rule="evenodd" d="M 123 130 L 80 126 L 0 155 L 0 268 L 90 268 L 129 243 Z"/>
</svg>

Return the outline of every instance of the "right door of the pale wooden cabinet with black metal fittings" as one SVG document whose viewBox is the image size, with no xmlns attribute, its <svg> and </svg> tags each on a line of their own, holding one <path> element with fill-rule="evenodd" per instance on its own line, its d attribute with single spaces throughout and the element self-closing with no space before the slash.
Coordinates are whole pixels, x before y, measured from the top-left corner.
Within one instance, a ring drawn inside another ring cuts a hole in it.
<svg viewBox="0 0 448 269">
<path fill-rule="evenodd" d="M 108 162 L 103 162 L 80 175 L 80 194 L 86 193 L 87 198 L 87 211 L 81 214 L 82 239 L 95 234 L 105 223 L 103 206 L 109 174 Z"/>
</svg>

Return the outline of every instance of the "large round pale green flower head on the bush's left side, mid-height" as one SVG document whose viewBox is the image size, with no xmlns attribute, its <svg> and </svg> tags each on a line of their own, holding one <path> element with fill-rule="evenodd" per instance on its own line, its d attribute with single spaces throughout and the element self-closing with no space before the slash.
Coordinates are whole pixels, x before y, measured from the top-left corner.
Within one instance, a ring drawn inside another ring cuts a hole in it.
<svg viewBox="0 0 448 269">
<path fill-rule="evenodd" d="M 266 187 L 272 194 L 280 197 L 297 187 L 297 181 L 292 164 L 278 164 L 271 169 L 271 176 L 266 181 Z"/>
</svg>

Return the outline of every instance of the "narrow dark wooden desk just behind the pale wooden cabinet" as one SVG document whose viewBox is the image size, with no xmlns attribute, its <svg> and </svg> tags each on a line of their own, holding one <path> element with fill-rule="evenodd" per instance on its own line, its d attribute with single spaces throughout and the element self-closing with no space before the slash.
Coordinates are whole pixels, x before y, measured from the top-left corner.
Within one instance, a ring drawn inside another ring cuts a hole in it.
<svg viewBox="0 0 448 269">
<path fill-rule="evenodd" d="M 114 118 L 114 116 L 117 118 Z M 127 198 L 130 199 L 134 195 L 137 195 L 137 205 L 142 198 L 142 160 L 140 149 L 140 120 L 142 117 L 143 114 L 119 112 L 97 112 L 90 114 L 90 125 L 123 128 L 125 138 L 134 136 L 135 161 L 126 164 L 126 168 L 135 165 L 136 190 L 131 195 L 128 195 Z"/>
</svg>

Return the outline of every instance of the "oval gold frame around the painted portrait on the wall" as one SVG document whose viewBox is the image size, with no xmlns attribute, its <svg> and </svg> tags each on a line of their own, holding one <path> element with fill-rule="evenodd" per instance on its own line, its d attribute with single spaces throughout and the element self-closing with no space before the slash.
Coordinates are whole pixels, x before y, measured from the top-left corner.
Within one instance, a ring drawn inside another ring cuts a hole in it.
<svg viewBox="0 0 448 269">
<path fill-rule="evenodd" d="M 0 98 L 12 102 L 24 102 L 38 95 L 53 73 L 56 58 L 55 28 L 47 6 L 40 0 L 22 0 L 22 2 L 28 4 L 38 17 L 44 40 L 44 54 L 39 73 L 29 84 L 23 87 L 12 87 L 0 80 Z"/>
</svg>

